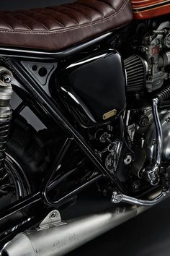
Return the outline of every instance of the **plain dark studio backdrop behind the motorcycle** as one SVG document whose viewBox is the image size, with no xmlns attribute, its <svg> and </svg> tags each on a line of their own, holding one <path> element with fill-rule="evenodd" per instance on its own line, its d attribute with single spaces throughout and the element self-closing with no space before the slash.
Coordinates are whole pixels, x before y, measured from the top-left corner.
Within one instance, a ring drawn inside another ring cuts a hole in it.
<svg viewBox="0 0 170 256">
<path fill-rule="evenodd" d="M 1 10 L 27 9 L 62 4 L 57 0 L 1 0 Z M 75 208 L 63 212 L 64 218 L 103 208 L 106 201 L 89 193 Z M 108 205 L 110 206 L 110 205 Z M 71 252 L 70 256 L 169 256 L 170 255 L 170 200 L 161 202 L 146 213 L 100 236 L 98 239 Z"/>
</svg>

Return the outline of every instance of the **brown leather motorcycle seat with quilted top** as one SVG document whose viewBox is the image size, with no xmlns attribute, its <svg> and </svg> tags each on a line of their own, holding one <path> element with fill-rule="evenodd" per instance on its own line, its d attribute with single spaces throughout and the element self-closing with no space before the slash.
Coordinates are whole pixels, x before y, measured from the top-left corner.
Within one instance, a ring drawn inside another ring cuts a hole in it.
<svg viewBox="0 0 170 256">
<path fill-rule="evenodd" d="M 0 12 L 0 46 L 60 51 L 132 19 L 129 0 L 79 0 L 59 7 Z"/>
</svg>

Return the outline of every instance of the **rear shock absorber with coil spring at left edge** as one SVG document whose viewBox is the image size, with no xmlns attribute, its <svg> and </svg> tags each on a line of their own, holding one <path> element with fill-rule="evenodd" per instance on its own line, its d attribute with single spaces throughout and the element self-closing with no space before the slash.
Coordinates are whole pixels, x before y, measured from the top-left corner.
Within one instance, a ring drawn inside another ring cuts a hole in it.
<svg viewBox="0 0 170 256">
<path fill-rule="evenodd" d="M 12 120 L 12 107 L 9 101 L 12 98 L 12 72 L 0 67 L 0 175 L 4 170 L 6 140 Z"/>
</svg>

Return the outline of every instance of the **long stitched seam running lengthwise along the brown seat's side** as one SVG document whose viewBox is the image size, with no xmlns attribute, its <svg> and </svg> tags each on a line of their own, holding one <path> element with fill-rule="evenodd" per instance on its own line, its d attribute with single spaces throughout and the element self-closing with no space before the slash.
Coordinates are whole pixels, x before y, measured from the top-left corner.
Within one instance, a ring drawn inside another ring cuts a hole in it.
<svg viewBox="0 0 170 256">
<path fill-rule="evenodd" d="M 99 25 L 103 22 L 107 22 L 108 20 L 111 20 L 113 17 L 116 17 L 118 16 L 124 9 L 125 7 L 128 5 L 129 3 L 129 0 L 124 0 L 122 6 L 117 10 L 116 13 L 114 14 L 111 14 L 109 15 L 108 17 L 106 18 L 103 18 L 102 20 L 99 20 L 97 22 L 93 22 L 92 24 L 87 24 L 87 25 L 79 25 L 77 27 L 71 27 L 70 29 L 61 29 L 61 30 L 55 30 L 55 31 L 48 31 L 48 32 L 44 32 L 44 31 L 22 31 L 22 30 L 12 30 L 12 31 L 9 31 L 9 30 L 0 30 L 0 33 L 18 33 L 18 34 L 40 34 L 40 35 L 45 35 L 45 34 L 57 34 L 57 33 L 66 33 L 66 32 L 69 32 L 69 31 L 73 31 L 73 30 L 78 30 L 78 29 L 81 29 L 81 28 L 84 28 L 84 27 L 91 27 L 91 26 L 94 26 L 94 25 Z"/>
</svg>

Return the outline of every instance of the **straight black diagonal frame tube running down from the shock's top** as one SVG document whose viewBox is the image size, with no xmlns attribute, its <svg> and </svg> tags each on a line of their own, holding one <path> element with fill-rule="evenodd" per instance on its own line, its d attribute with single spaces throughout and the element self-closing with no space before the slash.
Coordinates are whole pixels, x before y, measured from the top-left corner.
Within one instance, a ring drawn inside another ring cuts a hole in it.
<svg viewBox="0 0 170 256">
<path fill-rule="evenodd" d="M 117 186 L 117 182 L 115 182 L 114 177 L 109 173 L 109 171 L 107 171 L 106 168 L 104 168 L 101 159 L 88 145 L 86 140 L 84 140 L 84 137 L 82 137 L 82 135 L 70 124 L 68 119 L 66 119 L 66 116 L 63 116 L 55 101 L 53 101 L 53 98 L 50 98 L 50 96 L 45 93 L 44 90 L 42 90 L 40 85 L 32 80 L 30 74 L 27 74 L 27 72 L 17 61 L 13 61 L 13 59 L 6 59 L 5 62 L 6 65 L 12 69 L 17 79 L 19 79 L 19 82 L 22 82 L 24 90 L 30 93 L 32 97 L 37 99 L 40 105 L 42 105 L 42 109 L 44 108 L 46 113 L 48 112 L 49 116 L 51 116 L 53 121 L 55 121 L 55 123 L 59 125 L 64 132 L 66 132 L 68 137 L 73 138 L 76 144 L 79 145 L 79 148 L 81 148 L 89 160 L 98 169 L 99 173 L 102 173 L 103 176 L 108 176 L 109 179 L 114 182 L 115 187 L 122 190 L 120 186 Z"/>
</svg>

